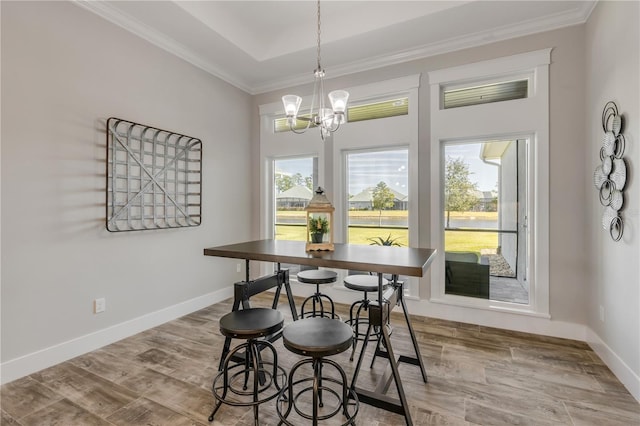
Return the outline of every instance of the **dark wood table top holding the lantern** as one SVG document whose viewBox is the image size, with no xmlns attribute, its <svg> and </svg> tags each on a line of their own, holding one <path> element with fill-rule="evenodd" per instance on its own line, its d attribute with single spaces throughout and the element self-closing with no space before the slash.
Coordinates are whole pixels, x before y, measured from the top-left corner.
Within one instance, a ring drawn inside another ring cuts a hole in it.
<svg viewBox="0 0 640 426">
<path fill-rule="evenodd" d="M 304 241 L 257 240 L 204 249 L 205 256 L 264 262 L 294 263 L 325 268 L 423 276 L 435 249 L 335 244 L 334 251 L 305 251 Z"/>
</svg>

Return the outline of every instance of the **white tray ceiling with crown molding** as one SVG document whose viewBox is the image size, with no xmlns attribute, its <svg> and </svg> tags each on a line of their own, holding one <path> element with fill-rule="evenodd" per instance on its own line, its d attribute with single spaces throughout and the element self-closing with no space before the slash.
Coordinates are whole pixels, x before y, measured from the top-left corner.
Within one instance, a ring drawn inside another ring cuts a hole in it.
<svg viewBox="0 0 640 426">
<path fill-rule="evenodd" d="M 250 94 L 313 80 L 315 1 L 82 6 Z M 327 78 L 584 23 L 595 1 L 323 1 Z"/>
</svg>

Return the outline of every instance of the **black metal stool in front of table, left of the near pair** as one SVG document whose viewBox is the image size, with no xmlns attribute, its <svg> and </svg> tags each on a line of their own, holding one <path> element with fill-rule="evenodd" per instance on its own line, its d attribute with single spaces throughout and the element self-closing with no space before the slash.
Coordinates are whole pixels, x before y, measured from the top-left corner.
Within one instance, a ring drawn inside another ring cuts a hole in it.
<svg viewBox="0 0 640 426">
<path fill-rule="evenodd" d="M 282 329 L 284 317 L 280 311 L 269 308 L 251 308 L 233 311 L 220 318 L 220 333 L 232 339 L 244 339 L 246 342 L 231 350 L 224 359 L 221 371 L 213 380 L 212 390 L 216 399 L 209 421 L 222 404 L 236 407 L 253 406 L 255 424 L 258 424 L 258 405 L 278 396 L 286 383 L 286 373 L 278 366 L 278 355 L 273 345 L 259 339 Z M 260 350 L 269 348 L 273 362 L 264 361 Z M 229 365 L 231 358 L 244 350 L 244 362 Z M 265 365 L 272 366 L 267 369 Z M 232 373 L 232 370 L 238 370 Z M 249 379 L 252 387 L 249 388 Z M 282 383 L 280 383 L 282 380 Z M 222 383 L 220 383 L 222 381 Z M 271 387 L 273 391 L 269 391 Z M 229 394 L 231 391 L 231 395 Z M 269 392 L 267 392 L 269 391 Z M 265 395 L 261 395 L 265 393 Z"/>
</svg>

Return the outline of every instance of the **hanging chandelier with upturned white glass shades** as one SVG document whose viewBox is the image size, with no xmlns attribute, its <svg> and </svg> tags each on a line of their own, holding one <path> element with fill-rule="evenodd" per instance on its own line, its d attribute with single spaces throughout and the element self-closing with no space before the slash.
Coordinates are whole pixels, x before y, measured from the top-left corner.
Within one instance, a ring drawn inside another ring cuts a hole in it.
<svg viewBox="0 0 640 426">
<path fill-rule="evenodd" d="M 298 110 L 302 103 L 302 98 L 297 95 L 285 95 L 282 97 L 284 111 L 287 115 L 287 123 L 294 133 L 304 133 L 311 125 L 320 128 L 320 136 L 324 140 L 331 133 L 338 130 L 340 124 L 346 121 L 345 110 L 347 109 L 347 100 L 349 92 L 345 90 L 334 90 L 329 93 L 329 101 L 331 108 L 325 107 L 324 99 L 324 70 L 320 65 L 320 0 L 318 0 L 318 47 L 317 47 L 318 63 L 317 68 L 313 72 L 315 77 L 313 85 L 313 96 L 311 97 L 311 109 L 309 115 L 298 116 Z M 317 104 L 316 104 L 317 103 Z M 306 122 L 306 126 L 302 129 L 296 129 L 296 121 Z"/>
</svg>

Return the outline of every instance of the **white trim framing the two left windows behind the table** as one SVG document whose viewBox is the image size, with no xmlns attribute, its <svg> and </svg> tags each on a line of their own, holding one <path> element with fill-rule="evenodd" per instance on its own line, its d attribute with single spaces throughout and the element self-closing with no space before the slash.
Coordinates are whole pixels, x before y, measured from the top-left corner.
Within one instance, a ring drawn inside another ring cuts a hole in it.
<svg viewBox="0 0 640 426">
<path fill-rule="evenodd" d="M 418 206 L 418 89 L 420 86 L 420 74 L 408 75 L 405 77 L 385 80 L 377 83 L 365 84 L 345 88 L 350 93 L 349 102 L 361 104 L 369 101 L 379 101 L 397 96 L 409 97 L 408 116 L 389 117 L 384 120 L 394 118 L 404 120 L 409 129 L 409 137 L 396 141 L 370 141 L 360 140 L 354 142 L 352 139 L 341 137 L 343 130 L 338 130 L 324 142 L 320 139 L 318 129 L 309 129 L 305 134 L 299 135 L 293 132 L 275 133 L 274 119 L 284 115 L 282 102 L 273 102 L 259 106 L 260 112 L 260 237 L 271 238 L 273 235 L 273 188 L 271 176 L 273 174 L 273 160 L 276 158 L 317 156 L 318 157 L 318 181 L 325 187 L 327 196 L 333 202 L 337 212 L 334 216 L 335 231 L 334 241 L 343 242 L 346 231 L 346 212 L 344 211 L 343 199 L 345 197 L 346 184 L 344 174 L 346 172 L 344 164 L 344 152 L 360 149 L 382 149 L 382 148 L 407 148 L 409 149 L 409 245 L 417 244 L 419 241 L 419 206 Z M 311 96 L 303 97 L 303 105 L 308 105 Z M 353 123 L 354 125 L 366 125 L 367 121 Z M 344 124 L 345 128 L 349 123 Z M 346 271 L 337 271 L 339 274 Z M 262 274 L 269 273 L 268 267 L 263 266 Z M 340 289 L 342 277 L 339 276 L 335 287 Z M 409 283 L 409 298 L 418 299 L 419 280 L 412 278 Z"/>
</svg>

